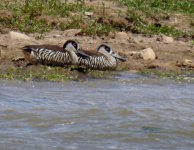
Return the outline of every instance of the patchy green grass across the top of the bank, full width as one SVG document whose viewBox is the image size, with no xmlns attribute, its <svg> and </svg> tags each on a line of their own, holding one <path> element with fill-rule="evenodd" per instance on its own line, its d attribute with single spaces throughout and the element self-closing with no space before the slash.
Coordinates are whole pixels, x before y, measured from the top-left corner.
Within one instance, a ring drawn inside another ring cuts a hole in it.
<svg viewBox="0 0 194 150">
<path fill-rule="evenodd" d="M 112 0 L 113 1 L 113 0 Z M 11 16 L 0 16 L 1 25 L 5 28 L 20 30 L 26 33 L 38 32 L 42 34 L 52 29 L 66 30 L 72 28 L 81 29 L 86 35 L 108 35 L 114 31 L 131 31 L 133 33 L 143 33 L 148 35 L 165 34 L 174 37 L 192 37 L 193 32 L 181 31 L 164 23 L 160 20 L 167 21 L 172 14 L 180 13 L 183 15 L 194 16 L 194 1 L 193 0 L 114 0 L 119 2 L 121 7 L 127 6 L 127 20 L 129 26 L 114 22 L 106 24 L 99 22 L 99 18 L 87 18 L 84 12 L 95 12 L 98 10 L 105 16 L 106 8 L 103 3 L 101 8 L 98 6 L 87 6 L 84 0 L 75 0 L 74 3 L 69 3 L 60 0 L 25 0 L 7 1 L 2 0 L 0 9 L 11 12 Z M 98 12 L 98 13 L 99 13 Z M 48 23 L 41 17 L 49 16 L 57 20 L 57 23 Z M 119 16 L 119 14 L 118 14 Z M 61 21 L 61 18 L 67 18 L 69 21 Z M 156 21 L 157 20 L 157 21 Z M 193 22 L 191 22 L 192 26 Z"/>
</svg>

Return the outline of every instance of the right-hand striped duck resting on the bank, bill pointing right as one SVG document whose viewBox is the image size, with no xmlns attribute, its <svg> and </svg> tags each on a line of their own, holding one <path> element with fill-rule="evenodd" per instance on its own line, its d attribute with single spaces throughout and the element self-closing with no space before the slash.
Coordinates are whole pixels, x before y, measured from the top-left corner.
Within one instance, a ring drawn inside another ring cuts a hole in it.
<svg viewBox="0 0 194 150">
<path fill-rule="evenodd" d="M 118 60 L 125 62 L 126 58 L 120 56 L 106 44 L 101 44 L 97 52 L 84 51 L 84 55 L 78 55 L 78 65 L 92 70 L 115 70 L 118 66 Z"/>
</svg>

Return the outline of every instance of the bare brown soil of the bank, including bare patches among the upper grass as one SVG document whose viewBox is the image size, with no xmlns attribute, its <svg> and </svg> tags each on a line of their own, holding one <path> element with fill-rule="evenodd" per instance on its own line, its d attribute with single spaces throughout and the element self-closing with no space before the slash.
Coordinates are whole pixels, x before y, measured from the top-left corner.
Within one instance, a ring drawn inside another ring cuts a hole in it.
<svg viewBox="0 0 194 150">
<path fill-rule="evenodd" d="M 114 51 L 119 52 L 127 58 L 125 63 L 119 63 L 119 70 L 141 71 L 141 70 L 161 70 L 174 72 L 193 71 L 194 43 L 192 38 L 173 39 L 166 42 L 163 35 L 145 36 L 134 34 L 130 31 L 133 25 L 125 14 L 127 8 L 120 6 L 113 1 L 85 1 L 86 5 L 95 6 L 95 12 L 92 16 L 100 23 L 115 25 L 120 30 L 128 29 L 125 32 L 109 33 L 107 36 L 86 36 L 81 29 L 70 29 L 65 31 L 52 30 L 40 37 L 40 34 L 27 34 L 28 39 L 20 39 L 10 36 L 10 29 L 2 29 L 0 33 L 0 70 L 23 67 L 25 62 L 21 47 L 29 44 L 55 44 L 62 46 L 66 40 L 77 40 L 85 50 L 95 51 L 96 48 L 106 43 Z M 4 17 L 9 17 L 9 13 L 1 12 Z M 165 15 L 165 14 L 163 14 Z M 55 23 L 55 18 L 42 16 L 48 24 Z M 180 14 L 172 16 L 158 16 L 152 21 L 158 24 L 173 24 L 178 29 L 191 31 L 193 26 L 189 18 Z M 162 19 L 161 19 L 162 18 Z M 190 25 L 188 25 L 190 24 Z M 84 24 L 83 24 L 84 25 Z M 132 51 L 139 52 L 145 48 L 152 48 L 155 52 L 155 60 L 144 60 L 131 55 Z M 189 64 L 185 61 L 190 62 Z M 36 67 L 36 66 L 34 66 Z"/>
</svg>

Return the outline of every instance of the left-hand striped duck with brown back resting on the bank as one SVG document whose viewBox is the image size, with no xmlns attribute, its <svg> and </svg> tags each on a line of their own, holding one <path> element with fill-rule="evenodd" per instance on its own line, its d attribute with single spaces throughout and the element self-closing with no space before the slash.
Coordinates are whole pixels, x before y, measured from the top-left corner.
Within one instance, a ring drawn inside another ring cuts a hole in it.
<svg viewBox="0 0 194 150">
<path fill-rule="evenodd" d="M 67 40 L 63 47 L 57 45 L 26 45 L 21 48 L 30 64 L 65 66 L 78 63 L 78 55 L 84 56 L 78 42 Z"/>
</svg>

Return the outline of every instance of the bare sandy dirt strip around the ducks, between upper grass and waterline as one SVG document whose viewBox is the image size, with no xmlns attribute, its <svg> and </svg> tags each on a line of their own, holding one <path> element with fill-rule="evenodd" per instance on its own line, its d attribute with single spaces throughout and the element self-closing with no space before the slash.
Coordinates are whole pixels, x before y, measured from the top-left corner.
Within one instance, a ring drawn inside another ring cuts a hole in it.
<svg viewBox="0 0 194 150">
<path fill-rule="evenodd" d="M 24 59 L 20 49 L 24 45 L 56 44 L 62 46 L 68 39 L 77 40 L 83 49 L 91 51 L 95 51 L 102 43 L 110 45 L 116 52 L 127 57 L 125 63 L 119 63 L 119 70 L 187 71 L 194 68 L 194 45 L 189 40 L 175 40 L 164 35 L 146 37 L 126 32 L 110 33 L 106 37 L 90 37 L 80 36 L 79 32 L 80 30 L 77 29 L 52 31 L 46 33 L 42 39 L 37 39 L 36 34 L 18 35 L 15 32 L 0 34 L 0 69 L 23 67 L 19 61 Z M 141 53 L 146 48 L 152 49 L 152 53 L 148 52 L 147 57 L 144 58 Z"/>
</svg>

